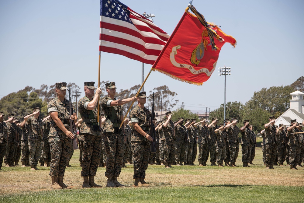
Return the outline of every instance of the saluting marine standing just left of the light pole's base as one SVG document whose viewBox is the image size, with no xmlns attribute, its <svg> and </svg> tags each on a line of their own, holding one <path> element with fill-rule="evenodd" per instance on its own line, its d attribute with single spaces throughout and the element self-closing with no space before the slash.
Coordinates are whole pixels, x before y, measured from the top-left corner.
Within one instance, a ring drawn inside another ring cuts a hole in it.
<svg viewBox="0 0 304 203">
<path fill-rule="evenodd" d="M 220 167 L 223 167 L 223 160 L 226 156 L 226 136 L 223 133 L 225 129 L 224 124 L 220 124 L 219 128 L 214 131 L 216 134 L 216 163 Z"/>
</svg>

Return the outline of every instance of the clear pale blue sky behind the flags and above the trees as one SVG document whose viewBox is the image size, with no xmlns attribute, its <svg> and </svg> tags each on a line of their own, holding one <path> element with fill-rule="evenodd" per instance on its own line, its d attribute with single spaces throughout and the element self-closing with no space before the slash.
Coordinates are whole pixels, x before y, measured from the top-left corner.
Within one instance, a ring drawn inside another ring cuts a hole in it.
<svg viewBox="0 0 304 203">
<path fill-rule="evenodd" d="M 154 23 L 171 34 L 189 1 L 121 1 L 138 13 L 152 13 Z M 209 22 L 237 40 L 225 44 L 217 68 L 230 66 L 226 102 L 245 103 L 263 87 L 289 85 L 303 75 L 304 1 L 199 1 L 193 5 Z M 98 81 L 100 1 L 1 1 L 0 98 L 41 84 Z M 145 73 L 151 65 L 145 64 Z M 141 83 L 141 62 L 101 53 L 101 81 L 118 89 Z M 210 110 L 224 101 L 224 77 L 215 71 L 202 86 L 152 72 L 144 90 L 167 85 L 190 110 Z M 82 96 L 84 96 L 83 89 Z M 203 104 L 203 105 L 198 105 Z"/>
</svg>

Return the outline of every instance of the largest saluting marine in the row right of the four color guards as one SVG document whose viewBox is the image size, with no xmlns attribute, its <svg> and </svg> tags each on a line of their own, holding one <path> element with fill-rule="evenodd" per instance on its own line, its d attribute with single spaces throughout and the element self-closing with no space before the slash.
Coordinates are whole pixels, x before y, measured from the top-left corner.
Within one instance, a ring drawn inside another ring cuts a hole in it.
<svg viewBox="0 0 304 203">
<path fill-rule="evenodd" d="M 171 168 L 171 164 L 175 162 L 175 144 L 174 144 L 174 123 L 171 121 L 171 111 L 166 112 L 166 121 L 162 123 L 162 143 L 164 149 L 164 165 L 165 168 Z"/>
</svg>

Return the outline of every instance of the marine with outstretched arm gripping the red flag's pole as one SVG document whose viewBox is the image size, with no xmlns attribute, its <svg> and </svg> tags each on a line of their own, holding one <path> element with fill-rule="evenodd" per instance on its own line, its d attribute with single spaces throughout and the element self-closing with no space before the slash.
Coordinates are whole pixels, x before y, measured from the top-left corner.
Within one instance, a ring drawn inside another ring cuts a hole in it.
<svg viewBox="0 0 304 203">
<path fill-rule="evenodd" d="M 117 177 L 123 166 L 124 135 L 119 125 L 123 120 L 121 105 L 135 101 L 136 97 L 116 100 L 115 82 L 105 84 L 108 96 L 102 99 L 101 107 L 105 113 L 106 121 L 103 134 L 105 135 L 105 151 L 107 153 L 105 176 L 108 178 L 107 187 L 123 186 L 117 181 Z"/>
</svg>

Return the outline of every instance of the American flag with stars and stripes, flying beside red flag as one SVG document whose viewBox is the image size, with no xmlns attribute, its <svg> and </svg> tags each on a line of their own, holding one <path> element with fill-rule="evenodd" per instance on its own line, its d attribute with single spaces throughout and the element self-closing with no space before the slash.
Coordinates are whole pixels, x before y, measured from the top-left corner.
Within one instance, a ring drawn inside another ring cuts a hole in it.
<svg viewBox="0 0 304 203">
<path fill-rule="evenodd" d="M 118 0 L 100 1 L 99 51 L 153 65 L 169 37 Z"/>
</svg>

